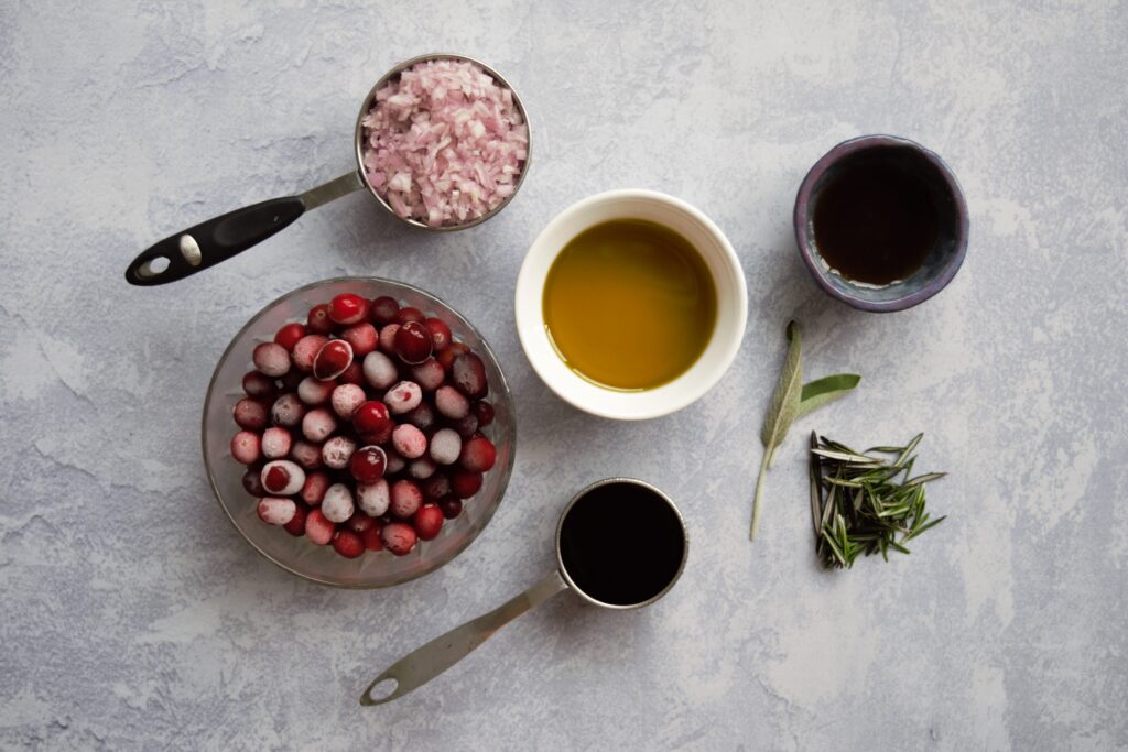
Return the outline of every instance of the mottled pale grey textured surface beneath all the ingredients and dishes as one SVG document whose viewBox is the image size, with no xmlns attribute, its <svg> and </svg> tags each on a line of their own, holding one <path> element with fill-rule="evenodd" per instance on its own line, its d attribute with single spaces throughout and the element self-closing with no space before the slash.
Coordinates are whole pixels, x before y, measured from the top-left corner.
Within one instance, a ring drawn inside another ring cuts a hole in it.
<svg viewBox="0 0 1128 752">
<path fill-rule="evenodd" d="M 1126 39 L 1107 2 L 0 3 L 0 745 L 1125 747 Z M 496 67 L 532 114 L 537 162 L 496 220 L 417 235 L 354 195 L 190 282 L 122 281 L 158 237 L 349 169 L 361 96 L 438 48 Z M 892 316 L 820 294 L 790 225 L 807 168 L 876 131 L 943 154 L 971 209 L 954 283 Z M 547 392 L 511 293 L 549 218 L 632 186 L 717 221 L 751 312 L 705 399 L 622 425 Z M 239 326 L 350 273 L 462 310 L 520 409 L 492 525 L 388 592 L 259 559 L 197 446 Z M 809 373 L 865 379 L 793 433 L 749 545 L 792 316 Z M 950 520 L 911 557 L 820 570 L 811 427 L 924 430 Z M 408 699 L 358 707 L 376 671 L 540 577 L 569 489 L 613 474 L 688 517 L 666 600 L 559 598 Z"/>
</svg>

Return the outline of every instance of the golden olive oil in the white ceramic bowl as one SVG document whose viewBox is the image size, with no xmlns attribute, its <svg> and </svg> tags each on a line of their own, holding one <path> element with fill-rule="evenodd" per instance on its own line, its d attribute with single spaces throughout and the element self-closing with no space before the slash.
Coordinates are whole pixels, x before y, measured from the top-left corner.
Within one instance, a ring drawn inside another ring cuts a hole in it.
<svg viewBox="0 0 1128 752">
<path fill-rule="evenodd" d="M 653 389 L 705 351 L 716 286 L 705 259 L 673 230 L 613 220 L 581 232 L 553 262 L 544 316 L 573 371 L 611 389 Z"/>
</svg>

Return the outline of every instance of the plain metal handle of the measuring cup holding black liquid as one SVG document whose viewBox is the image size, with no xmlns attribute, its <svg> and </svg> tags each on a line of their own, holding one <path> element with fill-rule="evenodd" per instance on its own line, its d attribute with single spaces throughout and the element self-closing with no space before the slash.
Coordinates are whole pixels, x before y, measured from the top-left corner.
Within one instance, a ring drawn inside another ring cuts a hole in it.
<svg viewBox="0 0 1128 752">
<path fill-rule="evenodd" d="M 506 623 L 529 609 L 540 605 L 562 590 L 567 590 L 567 585 L 559 572 L 553 570 L 548 577 L 490 613 L 467 621 L 460 627 L 455 627 L 446 635 L 435 637 L 423 647 L 400 658 L 368 685 L 364 693 L 360 696 L 360 704 L 384 705 L 422 687 L 465 658 Z M 389 695 L 372 697 L 372 690 L 388 680 L 396 682 L 396 689 Z"/>
</svg>

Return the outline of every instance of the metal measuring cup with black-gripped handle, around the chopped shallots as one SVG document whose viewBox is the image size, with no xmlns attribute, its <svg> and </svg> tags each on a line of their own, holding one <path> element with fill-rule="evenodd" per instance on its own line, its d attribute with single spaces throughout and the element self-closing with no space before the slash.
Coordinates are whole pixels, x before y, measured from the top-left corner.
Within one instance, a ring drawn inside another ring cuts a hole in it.
<svg viewBox="0 0 1128 752">
<path fill-rule="evenodd" d="M 369 110 L 372 109 L 372 106 L 376 104 L 376 92 L 379 91 L 385 83 L 399 76 L 399 73 L 407 70 L 412 65 L 430 60 L 461 60 L 481 67 L 482 70 L 492 76 L 499 85 L 512 91 L 513 105 L 521 114 L 521 118 L 525 121 L 525 126 L 528 131 L 528 153 L 525 158 L 525 163 L 521 166 L 521 172 L 517 176 L 517 183 L 513 184 L 513 193 L 482 216 L 459 224 L 442 227 L 431 227 L 420 222 L 418 220 L 400 216 L 391 209 L 388 202 L 377 193 L 376 188 L 373 188 L 364 177 L 363 122 L 365 115 L 368 115 Z M 364 100 L 361 104 L 360 113 L 356 115 L 353 147 L 356 159 L 356 168 L 354 170 L 296 196 L 271 198 L 250 206 L 244 206 L 243 209 L 237 209 L 232 212 L 228 212 L 227 214 L 201 222 L 200 224 L 193 225 L 187 230 L 182 230 L 180 232 L 170 235 L 164 240 L 150 246 L 148 249 L 142 251 L 141 255 L 133 259 L 133 263 L 125 269 L 126 281 L 131 284 L 149 286 L 183 280 L 186 276 L 205 269 L 209 266 L 214 266 L 220 262 L 224 262 L 236 254 L 240 254 L 247 248 L 262 242 L 266 238 L 270 238 L 274 233 L 288 227 L 309 210 L 317 209 L 321 204 L 327 204 L 331 201 L 362 188 L 368 189 L 372 197 L 376 198 L 377 203 L 391 216 L 395 216 L 397 220 L 406 222 L 412 227 L 437 232 L 449 232 L 451 230 L 465 230 L 476 224 L 481 224 L 508 206 L 513 200 L 513 196 L 515 196 L 517 192 L 521 188 L 521 183 L 525 182 L 525 176 L 529 171 L 529 163 L 532 159 L 532 127 L 529 124 L 528 113 L 526 113 L 525 105 L 521 104 L 521 98 L 517 95 L 517 90 L 510 86 L 509 81 L 502 78 L 501 73 L 485 63 L 474 60 L 473 57 L 467 57 L 466 55 L 431 53 L 412 57 L 411 60 L 405 60 L 385 73 L 384 77 L 369 90 L 368 96 L 364 97 Z"/>
</svg>

